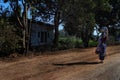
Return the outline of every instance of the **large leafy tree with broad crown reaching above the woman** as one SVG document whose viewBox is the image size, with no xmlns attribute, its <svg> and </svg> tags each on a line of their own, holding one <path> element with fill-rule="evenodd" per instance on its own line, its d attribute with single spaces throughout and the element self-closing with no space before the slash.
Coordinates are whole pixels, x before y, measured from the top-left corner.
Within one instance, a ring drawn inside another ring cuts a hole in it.
<svg viewBox="0 0 120 80">
<path fill-rule="evenodd" d="M 66 21 L 65 29 L 70 35 L 79 35 L 84 47 L 88 47 L 95 23 L 100 23 L 101 17 L 98 17 L 97 13 L 110 12 L 111 6 L 108 0 L 73 0 L 73 2 L 74 14 L 71 14 L 71 18 Z"/>
</svg>

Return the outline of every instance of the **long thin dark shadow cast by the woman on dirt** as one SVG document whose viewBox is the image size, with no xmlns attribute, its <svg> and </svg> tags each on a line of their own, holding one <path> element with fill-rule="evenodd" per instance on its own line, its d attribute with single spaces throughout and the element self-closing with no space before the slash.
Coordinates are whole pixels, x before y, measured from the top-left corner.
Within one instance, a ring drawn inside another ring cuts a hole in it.
<svg viewBox="0 0 120 80">
<path fill-rule="evenodd" d="M 54 66 L 72 66 L 72 65 L 96 65 L 101 62 L 73 62 L 73 63 L 53 63 Z"/>
</svg>

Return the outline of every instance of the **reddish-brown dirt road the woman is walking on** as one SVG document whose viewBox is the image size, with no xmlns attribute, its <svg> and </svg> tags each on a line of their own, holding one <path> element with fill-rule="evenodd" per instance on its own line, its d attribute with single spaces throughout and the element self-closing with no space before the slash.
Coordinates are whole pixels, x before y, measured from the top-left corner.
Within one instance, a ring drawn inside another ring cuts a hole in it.
<svg viewBox="0 0 120 80">
<path fill-rule="evenodd" d="M 120 80 L 120 46 L 107 48 L 103 64 L 94 50 L 72 49 L 14 62 L 0 61 L 0 80 Z"/>
</svg>

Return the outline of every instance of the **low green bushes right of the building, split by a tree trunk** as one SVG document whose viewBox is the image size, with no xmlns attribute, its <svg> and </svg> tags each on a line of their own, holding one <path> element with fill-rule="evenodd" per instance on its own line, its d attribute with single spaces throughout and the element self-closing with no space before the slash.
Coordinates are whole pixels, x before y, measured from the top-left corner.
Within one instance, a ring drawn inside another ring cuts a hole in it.
<svg viewBox="0 0 120 80">
<path fill-rule="evenodd" d="M 80 38 L 76 37 L 60 37 L 59 38 L 59 50 L 65 50 L 70 48 L 81 48 L 83 47 L 83 42 Z M 89 47 L 95 47 L 98 45 L 98 42 L 90 40 Z"/>
</svg>

